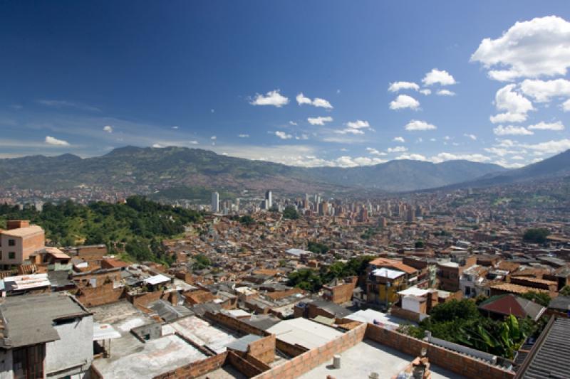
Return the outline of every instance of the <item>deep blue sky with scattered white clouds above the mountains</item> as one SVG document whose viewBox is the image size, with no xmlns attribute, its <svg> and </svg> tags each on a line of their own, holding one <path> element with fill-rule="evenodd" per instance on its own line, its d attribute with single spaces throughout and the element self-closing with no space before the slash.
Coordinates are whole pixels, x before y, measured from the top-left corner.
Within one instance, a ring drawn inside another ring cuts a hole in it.
<svg viewBox="0 0 570 379">
<path fill-rule="evenodd" d="M 393 3 L 3 2 L 0 157 L 517 167 L 570 148 L 567 1 Z"/>
</svg>

